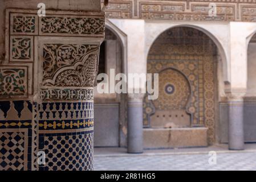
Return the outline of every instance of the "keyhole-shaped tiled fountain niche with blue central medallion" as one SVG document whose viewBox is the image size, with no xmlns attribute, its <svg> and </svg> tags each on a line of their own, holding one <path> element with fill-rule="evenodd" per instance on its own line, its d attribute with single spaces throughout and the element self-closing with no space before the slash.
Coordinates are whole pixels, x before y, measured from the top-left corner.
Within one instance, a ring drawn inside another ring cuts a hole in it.
<svg viewBox="0 0 256 182">
<path fill-rule="evenodd" d="M 189 105 L 192 89 L 188 78 L 176 68 L 159 72 L 159 99 L 153 100 L 155 114 L 151 115 L 151 127 L 190 127 L 192 113 Z"/>
</svg>

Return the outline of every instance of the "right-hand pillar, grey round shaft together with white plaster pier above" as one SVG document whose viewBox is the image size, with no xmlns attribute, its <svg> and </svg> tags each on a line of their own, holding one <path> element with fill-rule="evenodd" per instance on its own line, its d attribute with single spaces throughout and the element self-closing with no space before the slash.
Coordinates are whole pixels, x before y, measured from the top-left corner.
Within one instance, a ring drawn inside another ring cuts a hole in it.
<svg viewBox="0 0 256 182">
<path fill-rule="evenodd" d="M 230 22 L 229 149 L 243 150 L 243 96 L 247 89 L 247 37 L 255 25 Z M 237 31 L 239 28 L 239 31 Z"/>
</svg>

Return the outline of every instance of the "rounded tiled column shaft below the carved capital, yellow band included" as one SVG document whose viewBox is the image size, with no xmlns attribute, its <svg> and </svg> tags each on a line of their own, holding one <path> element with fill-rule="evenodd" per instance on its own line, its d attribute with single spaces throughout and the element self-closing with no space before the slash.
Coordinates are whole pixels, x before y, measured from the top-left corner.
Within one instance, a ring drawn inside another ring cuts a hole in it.
<svg viewBox="0 0 256 182">
<path fill-rule="evenodd" d="M 39 169 L 93 169 L 93 102 L 43 102 L 38 111 L 39 150 L 46 154 Z"/>
</svg>

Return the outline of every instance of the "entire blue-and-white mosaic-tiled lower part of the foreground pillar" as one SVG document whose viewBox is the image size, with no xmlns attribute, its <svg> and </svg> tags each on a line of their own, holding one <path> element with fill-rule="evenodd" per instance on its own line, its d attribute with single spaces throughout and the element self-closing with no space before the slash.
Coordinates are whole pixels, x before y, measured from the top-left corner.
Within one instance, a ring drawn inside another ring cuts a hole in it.
<svg viewBox="0 0 256 182">
<path fill-rule="evenodd" d="M 92 170 L 93 112 L 93 102 L 0 101 L 0 170 Z"/>
</svg>

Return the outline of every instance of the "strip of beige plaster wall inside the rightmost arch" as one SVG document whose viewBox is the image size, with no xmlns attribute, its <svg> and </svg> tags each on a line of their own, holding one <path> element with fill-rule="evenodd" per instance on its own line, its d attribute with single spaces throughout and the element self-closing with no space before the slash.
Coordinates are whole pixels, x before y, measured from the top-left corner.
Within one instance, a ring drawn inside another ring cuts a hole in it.
<svg viewBox="0 0 256 182">
<path fill-rule="evenodd" d="M 246 96 L 256 96 L 256 43 L 248 47 L 248 80 Z"/>
</svg>

